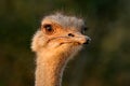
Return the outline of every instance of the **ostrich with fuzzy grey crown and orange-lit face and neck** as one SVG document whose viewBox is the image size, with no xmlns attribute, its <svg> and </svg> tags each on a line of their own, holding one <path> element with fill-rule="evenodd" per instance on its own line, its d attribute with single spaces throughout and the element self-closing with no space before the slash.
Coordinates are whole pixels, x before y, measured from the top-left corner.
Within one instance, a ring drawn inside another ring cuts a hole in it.
<svg viewBox="0 0 130 86">
<path fill-rule="evenodd" d="M 37 55 L 35 86 L 61 86 L 66 63 L 90 42 L 90 38 L 83 34 L 86 29 L 81 18 L 61 13 L 41 20 L 31 43 Z"/>
</svg>

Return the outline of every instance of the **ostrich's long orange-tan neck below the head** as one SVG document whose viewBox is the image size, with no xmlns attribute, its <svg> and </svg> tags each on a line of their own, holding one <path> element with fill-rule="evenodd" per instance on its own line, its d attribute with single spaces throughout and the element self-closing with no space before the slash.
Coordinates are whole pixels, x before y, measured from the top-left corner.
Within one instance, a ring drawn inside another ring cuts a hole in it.
<svg viewBox="0 0 130 86">
<path fill-rule="evenodd" d="M 66 54 L 37 54 L 36 85 L 35 86 L 61 86 L 63 70 L 66 66 Z M 69 56 L 69 55 L 67 55 Z"/>
</svg>

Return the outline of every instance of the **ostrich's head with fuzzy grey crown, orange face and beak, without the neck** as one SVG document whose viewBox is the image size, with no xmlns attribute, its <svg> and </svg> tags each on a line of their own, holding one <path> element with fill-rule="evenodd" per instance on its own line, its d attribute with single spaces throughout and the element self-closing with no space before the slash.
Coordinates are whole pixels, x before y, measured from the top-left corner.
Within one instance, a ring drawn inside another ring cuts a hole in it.
<svg viewBox="0 0 130 86">
<path fill-rule="evenodd" d="M 84 22 L 75 16 L 65 16 L 60 13 L 46 16 L 40 29 L 32 39 L 32 51 L 49 49 L 52 53 L 66 53 L 80 49 L 88 44 L 90 38 L 84 35 Z"/>
</svg>

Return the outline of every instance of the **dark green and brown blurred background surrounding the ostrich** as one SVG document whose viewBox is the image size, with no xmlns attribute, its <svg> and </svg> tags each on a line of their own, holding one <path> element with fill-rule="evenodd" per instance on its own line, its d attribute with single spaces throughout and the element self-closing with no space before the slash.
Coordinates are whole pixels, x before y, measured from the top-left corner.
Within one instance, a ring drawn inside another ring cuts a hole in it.
<svg viewBox="0 0 130 86">
<path fill-rule="evenodd" d="M 0 86 L 34 86 L 31 37 L 55 11 L 82 16 L 92 39 L 63 86 L 130 86 L 130 0 L 0 0 Z"/>
</svg>

